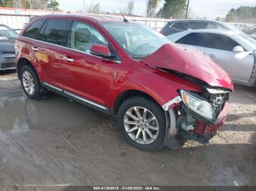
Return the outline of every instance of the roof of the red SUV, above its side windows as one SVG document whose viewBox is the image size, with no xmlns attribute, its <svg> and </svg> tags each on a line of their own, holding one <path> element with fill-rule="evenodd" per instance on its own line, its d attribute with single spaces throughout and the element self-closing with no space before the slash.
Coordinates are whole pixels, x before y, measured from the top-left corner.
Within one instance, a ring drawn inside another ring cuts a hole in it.
<svg viewBox="0 0 256 191">
<path fill-rule="evenodd" d="M 89 14 L 82 14 L 82 13 L 64 13 L 64 14 L 50 14 L 50 15 L 43 15 L 39 17 L 45 17 L 45 18 L 50 18 L 50 17 L 70 17 L 70 18 L 86 18 L 89 20 L 93 20 L 94 22 L 101 23 L 101 22 L 115 22 L 115 23 L 122 23 L 124 22 L 123 18 L 118 18 L 118 17 L 107 17 L 107 16 L 102 16 L 102 15 L 89 15 Z"/>
</svg>

